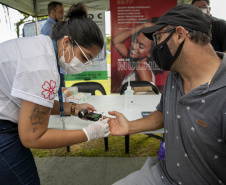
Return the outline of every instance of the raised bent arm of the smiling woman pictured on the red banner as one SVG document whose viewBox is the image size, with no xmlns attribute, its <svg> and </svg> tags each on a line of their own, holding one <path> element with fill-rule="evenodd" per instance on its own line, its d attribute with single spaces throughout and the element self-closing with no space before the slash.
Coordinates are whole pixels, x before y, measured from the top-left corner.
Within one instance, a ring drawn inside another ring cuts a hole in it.
<svg viewBox="0 0 226 185">
<path fill-rule="evenodd" d="M 132 29 L 128 29 L 126 31 L 119 33 L 118 35 L 116 35 L 115 37 L 112 38 L 113 46 L 115 47 L 115 49 L 119 52 L 119 54 L 123 58 L 127 58 L 129 55 L 129 49 L 126 47 L 124 42 L 127 39 L 129 39 L 133 34 L 139 32 L 141 29 L 143 29 L 145 27 L 150 27 L 152 25 L 153 25 L 153 23 L 147 22 L 144 24 L 139 24 Z"/>
</svg>

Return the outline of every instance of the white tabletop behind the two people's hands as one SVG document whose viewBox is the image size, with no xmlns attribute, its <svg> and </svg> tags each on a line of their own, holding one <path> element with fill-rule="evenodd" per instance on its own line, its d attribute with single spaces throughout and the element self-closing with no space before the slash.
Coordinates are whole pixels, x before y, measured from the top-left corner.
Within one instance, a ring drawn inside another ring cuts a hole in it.
<svg viewBox="0 0 226 185">
<path fill-rule="evenodd" d="M 88 103 L 93 105 L 98 113 L 110 116 L 108 111 L 118 111 L 123 113 L 128 120 L 142 118 L 141 111 L 154 111 L 160 101 L 161 95 L 134 95 L 134 105 L 132 109 L 126 110 L 124 107 L 123 95 L 100 95 L 92 96 Z M 77 116 L 65 116 L 66 130 L 79 130 L 90 124 L 90 121 L 81 120 Z M 49 128 L 62 129 L 63 124 L 60 116 L 50 116 Z M 146 133 L 146 132 L 145 132 Z M 150 131 L 148 133 L 164 133 L 164 129 Z"/>
</svg>

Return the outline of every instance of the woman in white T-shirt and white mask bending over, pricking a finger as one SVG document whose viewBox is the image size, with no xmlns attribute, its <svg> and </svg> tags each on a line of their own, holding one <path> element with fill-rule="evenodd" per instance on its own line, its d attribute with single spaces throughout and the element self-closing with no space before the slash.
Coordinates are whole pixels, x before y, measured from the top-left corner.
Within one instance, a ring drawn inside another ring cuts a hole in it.
<svg viewBox="0 0 226 185">
<path fill-rule="evenodd" d="M 60 113 L 60 104 L 54 101 L 60 84 L 58 64 L 69 74 L 80 73 L 104 45 L 101 31 L 82 4 L 73 5 L 66 20 L 55 25 L 52 39 L 40 35 L 0 44 L 2 185 L 40 184 L 29 148 L 58 148 L 109 134 L 106 119 L 83 130 L 48 128 L 50 115 Z M 75 116 L 83 109 L 95 110 L 89 104 L 63 103 L 63 107 L 64 114 Z"/>
</svg>

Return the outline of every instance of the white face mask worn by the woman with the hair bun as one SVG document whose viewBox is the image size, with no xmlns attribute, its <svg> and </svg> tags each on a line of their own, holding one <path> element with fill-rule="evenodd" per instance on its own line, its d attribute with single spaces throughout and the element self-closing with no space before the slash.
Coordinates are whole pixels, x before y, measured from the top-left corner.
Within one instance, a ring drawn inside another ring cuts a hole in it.
<svg viewBox="0 0 226 185">
<path fill-rule="evenodd" d="M 66 60 L 64 57 L 64 50 L 63 50 L 63 55 L 59 59 L 59 66 L 68 74 L 78 74 L 85 71 L 89 65 L 87 65 L 87 63 L 85 64 L 82 63 L 76 56 L 74 56 L 73 46 L 72 46 L 72 53 L 73 53 L 73 58 L 71 62 L 66 63 Z"/>
</svg>

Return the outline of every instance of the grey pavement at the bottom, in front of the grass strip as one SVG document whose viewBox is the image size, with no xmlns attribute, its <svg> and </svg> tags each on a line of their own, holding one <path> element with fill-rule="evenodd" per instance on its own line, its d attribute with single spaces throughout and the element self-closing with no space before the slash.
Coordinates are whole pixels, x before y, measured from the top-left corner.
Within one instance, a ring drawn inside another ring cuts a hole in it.
<svg viewBox="0 0 226 185">
<path fill-rule="evenodd" d="M 111 185 L 147 157 L 35 157 L 41 185 Z M 155 157 L 157 160 L 157 157 Z"/>
</svg>

